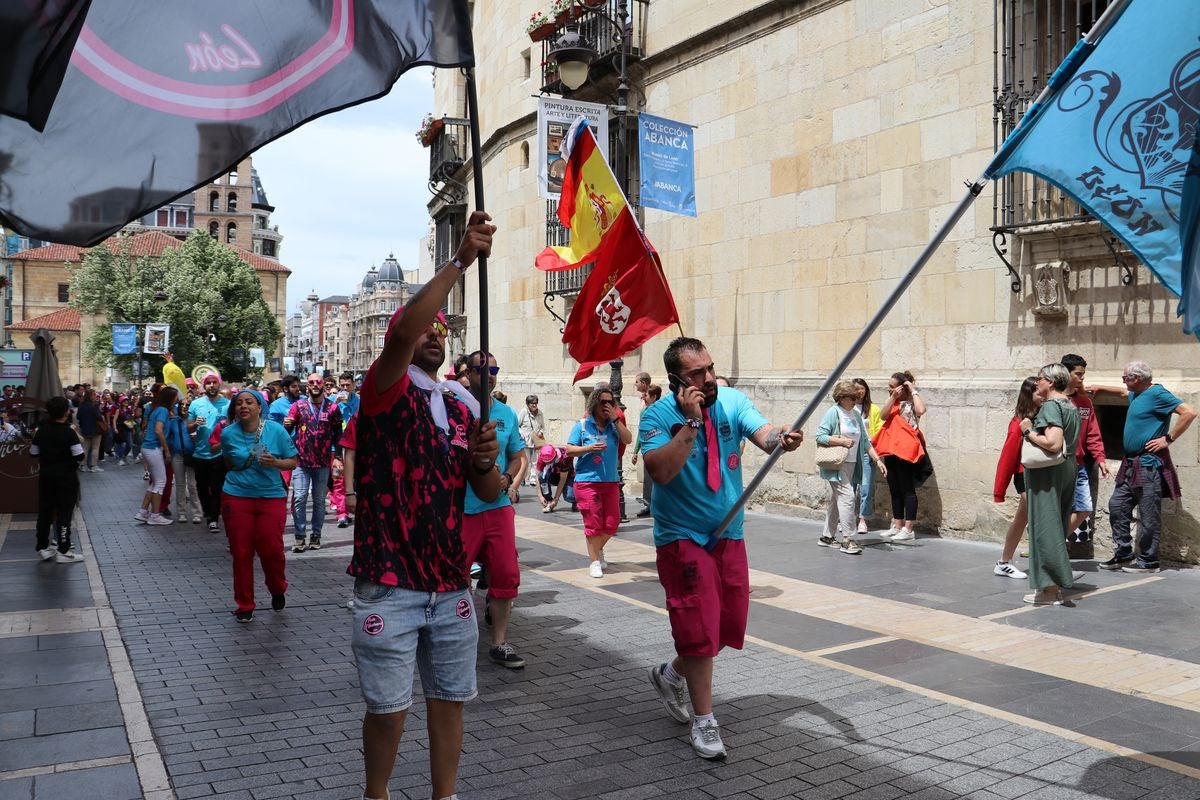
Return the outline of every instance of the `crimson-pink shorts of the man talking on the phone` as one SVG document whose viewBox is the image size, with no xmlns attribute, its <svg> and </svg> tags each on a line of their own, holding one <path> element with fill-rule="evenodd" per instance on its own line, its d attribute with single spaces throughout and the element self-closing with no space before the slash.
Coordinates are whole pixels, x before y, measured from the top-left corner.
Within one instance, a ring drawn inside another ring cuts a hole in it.
<svg viewBox="0 0 1200 800">
<path fill-rule="evenodd" d="M 709 553 L 680 539 L 658 548 L 658 567 L 676 652 L 712 658 L 721 648 L 742 649 L 750 614 L 744 541 L 722 539 Z"/>
</svg>

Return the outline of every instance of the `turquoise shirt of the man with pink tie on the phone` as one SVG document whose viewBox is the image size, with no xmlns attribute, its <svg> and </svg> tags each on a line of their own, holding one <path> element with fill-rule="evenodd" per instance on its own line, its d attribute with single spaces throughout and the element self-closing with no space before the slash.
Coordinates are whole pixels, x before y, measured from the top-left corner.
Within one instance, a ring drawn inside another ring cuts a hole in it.
<svg viewBox="0 0 1200 800">
<path fill-rule="evenodd" d="M 767 425 L 750 398 L 736 389 L 721 386 L 716 402 L 708 409 L 712 425 L 716 426 L 716 441 L 721 452 L 721 488 L 708 488 L 707 432 L 702 428 L 691 445 L 691 453 L 679 474 L 670 483 L 654 486 L 650 513 L 654 517 L 654 546 L 662 547 L 680 539 L 690 539 L 701 547 L 742 497 L 742 441 Z M 637 428 L 642 452 L 650 453 L 668 444 L 682 426 L 686 425 L 674 395 L 668 395 L 646 409 Z M 725 529 L 725 537 L 742 539 L 738 515 Z"/>
</svg>

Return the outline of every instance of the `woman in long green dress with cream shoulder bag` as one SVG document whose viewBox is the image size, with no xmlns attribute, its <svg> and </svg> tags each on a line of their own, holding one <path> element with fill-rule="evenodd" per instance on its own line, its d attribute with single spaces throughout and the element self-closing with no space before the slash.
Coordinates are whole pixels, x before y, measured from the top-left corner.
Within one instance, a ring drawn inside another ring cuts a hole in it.
<svg viewBox="0 0 1200 800">
<path fill-rule="evenodd" d="M 1075 497 L 1075 444 L 1079 440 L 1079 409 L 1064 393 L 1070 373 L 1061 363 L 1048 363 L 1038 372 L 1036 396 L 1042 408 L 1030 420 L 1021 420 L 1026 440 L 1048 453 L 1066 452 L 1063 463 L 1025 469 L 1030 512 L 1030 585 L 1025 602 L 1034 606 L 1072 606 L 1062 590 L 1073 579 L 1067 557 L 1070 506 Z"/>
</svg>

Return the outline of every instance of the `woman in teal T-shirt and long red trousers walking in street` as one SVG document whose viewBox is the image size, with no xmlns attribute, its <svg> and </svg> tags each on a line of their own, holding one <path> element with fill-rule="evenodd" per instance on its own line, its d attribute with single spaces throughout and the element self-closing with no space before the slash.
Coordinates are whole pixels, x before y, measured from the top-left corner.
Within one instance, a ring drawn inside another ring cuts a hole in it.
<svg viewBox="0 0 1200 800">
<path fill-rule="evenodd" d="M 288 489 L 281 471 L 294 469 L 296 449 L 282 425 L 266 419 L 266 402 L 246 389 L 234 401 L 234 421 L 221 432 L 226 459 L 221 516 L 233 553 L 234 616 L 254 619 L 254 554 L 263 565 L 271 608 L 287 603 L 283 572 L 283 524 Z"/>
</svg>

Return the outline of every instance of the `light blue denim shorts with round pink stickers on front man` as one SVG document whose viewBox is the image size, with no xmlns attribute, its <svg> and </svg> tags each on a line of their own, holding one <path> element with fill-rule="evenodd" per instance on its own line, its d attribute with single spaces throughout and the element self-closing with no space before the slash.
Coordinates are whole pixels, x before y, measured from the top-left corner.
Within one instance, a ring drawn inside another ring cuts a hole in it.
<svg viewBox="0 0 1200 800">
<path fill-rule="evenodd" d="M 414 667 L 425 697 L 473 699 L 478 643 L 466 589 L 428 593 L 362 578 L 354 582 L 350 644 L 368 714 L 394 714 L 413 704 Z"/>
</svg>

